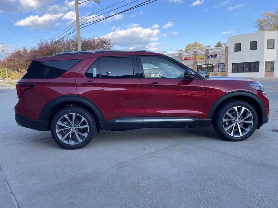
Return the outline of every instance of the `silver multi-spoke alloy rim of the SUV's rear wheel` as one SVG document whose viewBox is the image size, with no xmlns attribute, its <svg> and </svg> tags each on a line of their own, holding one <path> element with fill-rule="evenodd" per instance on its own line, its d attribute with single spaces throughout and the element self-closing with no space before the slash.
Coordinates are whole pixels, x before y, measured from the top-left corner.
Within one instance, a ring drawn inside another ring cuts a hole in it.
<svg viewBox="0 0 278 208">
<path fill-rule="evenodd" d="M 69 113 L 58 120 L 56 133 L 58 138 L 66 144 L 79 144 L 87 138 L 89 125 L 83 116 Z"/>
</svg>

